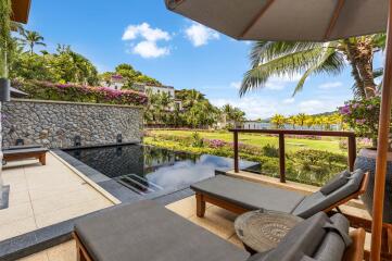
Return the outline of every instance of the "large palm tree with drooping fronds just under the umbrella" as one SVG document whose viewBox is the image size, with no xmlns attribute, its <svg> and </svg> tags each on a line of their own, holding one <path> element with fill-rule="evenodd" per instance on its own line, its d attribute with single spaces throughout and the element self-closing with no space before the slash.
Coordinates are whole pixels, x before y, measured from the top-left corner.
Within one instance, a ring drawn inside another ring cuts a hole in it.
<svg viewBox="0 0 392 261">
<path fill-rule="evenodd" d="M 327 73 L 337 75 L 351 65 L 356 97 L 375 96 L 375 52 L 383 49 L 384 35 L 353 37 L 330 42 L 257 41 L 252 47 L 249 70 L 242 80 L 240 95 L 264 87 L 271 76 L 293 77 L 302 75 L 293 96 L 303 89 L 309 75 Z"/>
</svg>

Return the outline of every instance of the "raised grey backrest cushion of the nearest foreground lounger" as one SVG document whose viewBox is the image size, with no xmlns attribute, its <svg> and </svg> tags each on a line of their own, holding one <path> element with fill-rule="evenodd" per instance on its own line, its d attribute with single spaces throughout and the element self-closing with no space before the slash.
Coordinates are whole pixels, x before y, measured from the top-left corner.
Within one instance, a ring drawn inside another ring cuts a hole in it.
<svg viewBox="0 0 392 261">
<path fill-rule="evenodd" d="M 252 261 L 340 261 L 346 247 L 342 238 L 349 237 L 349 222 L 341 214 L 329 219 L 324 212 L 301 222 L 279 245 Z M 338 222 L 337 222 L 338 220 Z"/>
</svg>

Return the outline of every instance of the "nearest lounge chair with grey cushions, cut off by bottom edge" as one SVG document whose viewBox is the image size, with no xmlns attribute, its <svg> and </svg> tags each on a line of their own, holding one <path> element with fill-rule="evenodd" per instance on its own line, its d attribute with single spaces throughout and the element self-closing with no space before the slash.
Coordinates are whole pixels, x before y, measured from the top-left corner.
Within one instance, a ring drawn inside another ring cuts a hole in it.
<svg viewBox="0 0 392 261">
<path fill-rule="evenodd" d="M 295 226 L 275 250 L 249 258 L 245 250 L 163 206 L 140 201 L 79 220 L 74 238 L 79 261 L 363 260 L 365 232 L 356 229 L 351 237 L 347 232 L 343 215 L 318 213 Z"/>
</svg>

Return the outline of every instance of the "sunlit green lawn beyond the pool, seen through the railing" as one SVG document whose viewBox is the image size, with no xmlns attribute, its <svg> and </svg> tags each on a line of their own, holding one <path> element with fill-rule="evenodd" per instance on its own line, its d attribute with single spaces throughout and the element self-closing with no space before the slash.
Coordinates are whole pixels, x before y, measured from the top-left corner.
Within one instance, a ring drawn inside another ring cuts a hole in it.
<svg viewBox="0 0 392 261">
<path fill-rule="evenodd" d="M 151 130 L 153 134 L 166 134 L 176 136 L 190 136 L 192 130 Z M 232 133 L 229 132 L 199 132 L 203 138 L 222 139 L 225 141 L 232 141 Z M 242 144 L 264 147 L 266 145 L 274 145 L 278 147 L 278 138 L 270 136 L 262 136 L 254 134 L 239 134 L 239 140 Z M 305 138 L 286 138 L 286 150 L 296 151 L 300 149 L 317 149 L 326 150 L 336 153 L 346 154 L 346 150 L 339 148 L 339 138 L 324 137 L 323 139 L 305 139 Z"/>
</svg>

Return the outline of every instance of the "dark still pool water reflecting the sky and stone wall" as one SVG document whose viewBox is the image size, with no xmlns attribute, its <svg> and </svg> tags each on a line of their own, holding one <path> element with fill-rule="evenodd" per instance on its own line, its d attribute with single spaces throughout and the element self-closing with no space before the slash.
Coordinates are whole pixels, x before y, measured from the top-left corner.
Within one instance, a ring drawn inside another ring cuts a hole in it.
<svg viewBox="0 0 392 261">
<path fill-rule="evenodd" d="M 197 156 L 141 145 L 72 149 L 65 152 L 141 195 L 189 186 L 212 177 L 215 171 L 233 169 L 233 161 L 229 158 Z M 241 161 L 240 167 L 255 164 Z"/>
</svg>

